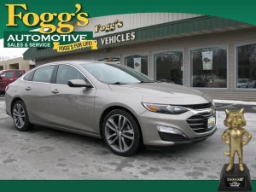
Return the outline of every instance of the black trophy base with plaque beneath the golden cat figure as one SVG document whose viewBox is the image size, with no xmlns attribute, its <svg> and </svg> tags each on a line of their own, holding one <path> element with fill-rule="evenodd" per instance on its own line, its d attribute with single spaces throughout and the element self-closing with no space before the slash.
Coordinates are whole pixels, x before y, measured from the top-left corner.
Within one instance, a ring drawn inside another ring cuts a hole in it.
<svg viewBox="0 0 256 192">
<path fill-rule="evenodd" d="M 253 191 L 249 169 L 243 164 L 244 172 L 239 171 L 238 164 L 230 172 L 226 172 L 228 164 L 222 168 L 218 191 Z"/>
</svg>

